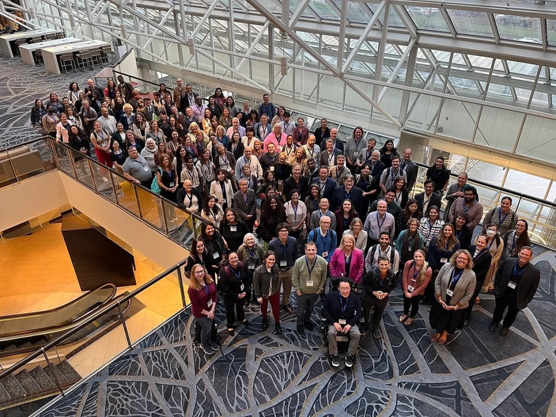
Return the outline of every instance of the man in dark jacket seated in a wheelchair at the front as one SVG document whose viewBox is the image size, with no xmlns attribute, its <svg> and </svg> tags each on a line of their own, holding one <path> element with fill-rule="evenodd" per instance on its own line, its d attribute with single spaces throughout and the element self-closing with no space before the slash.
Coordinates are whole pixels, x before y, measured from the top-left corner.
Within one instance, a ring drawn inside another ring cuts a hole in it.
<svg viewBox="0 0 556 417">
<path fill-rule="evenodd" d="M 349 346 L 345 363 L 351 367 L 361 339 L 358 322 L 363 316 L 363 308 L 359 297 L 351 292 L 351 281 L 348 278 L 340 279 L 338 289 L 339 291 L 329 292 L 326 296 L 321 315 L 328 325 L 328 351 L 332 366 L 340 366 L 337 341 L 347 337 Z"/>
</svg>

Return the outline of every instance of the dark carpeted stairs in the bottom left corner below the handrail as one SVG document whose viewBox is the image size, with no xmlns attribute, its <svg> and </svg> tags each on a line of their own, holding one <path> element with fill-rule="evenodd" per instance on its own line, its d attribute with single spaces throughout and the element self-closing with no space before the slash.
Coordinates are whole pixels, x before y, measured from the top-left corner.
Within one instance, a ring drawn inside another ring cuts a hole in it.
<svg viewBox="0 0 556 417">
<path fill-rule="evenodd" d="M 54 377 L 56 374 L 56 377 Z M 12 411 L 7 412 L 8 408 L 17 408 L 23 415 L 31 414 L 37 405 L 23 404 L 33 399 L 44 398 L 46 396 L 58 395 L 59 390 L 56 378 L 63 389 L 69 388 L 77 381 L 81 380 L 81 375 L 68 363 L 62 360 L 58 364 L 42 363 L 31 371 L 23 369 L 15 375 L 8 375 L 0 382 L 0 417 L 12 415 Z M 16 414 L 13 414 L 16 415 Z"/>
</svg>

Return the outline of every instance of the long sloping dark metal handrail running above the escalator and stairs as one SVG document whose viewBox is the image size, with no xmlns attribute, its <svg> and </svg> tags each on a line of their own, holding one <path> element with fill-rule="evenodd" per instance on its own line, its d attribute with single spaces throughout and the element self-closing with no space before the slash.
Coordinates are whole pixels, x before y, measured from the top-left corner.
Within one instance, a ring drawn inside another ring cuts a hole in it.
<svg viewBox="0 0 556 417">
<path fill-rule="evenodd" d="M 138 287 L 137 289 L 131 291 L 129 294 L 123 296 L 121 299 L 113 300 L 110 304 L 102 307 L 102 309 L 97 310 L 90 317 L 88 317 L 85 321 L 83 321 L 82 324 L 80 324 L 80 325 L 74 327 L 73 329 L 67 331 L 66 333 L 57 337 L 56 339 L 52 340 L 51 342 L 48 342 L 46 345 L 44 345 L 40 349 L 38 349 L 38 350 L 34 351 L 32 354 L 26 356 L 26 358 L 23 358 L 22 360 L 18 361 L 16 364 L 13 364 L 12 366 L 10 366 L 8 369 L 2 371 L 0 373 L 0 380 L 2 380 L 3 378 L 6 378 L 6 376 L 8 376 L 8 375 L 13 374 L 16 370 L 22 368 L 22 366 L 27 365 L 33 359 L 36 359 L 39 356 L 46 354 L 46 352 L 49 349 L 52 349 L 52 347 L 55 347 L 55 346 L 61 344 L 61 342 L 68 339 L 69 336 L 72 336 L 72 335 L 76 334 L 78 331 L 84 329 L 86 326 L 90 325 L 93 321 L 95 321 L 95 320 L 99 319 L 100 317 L 102 317 L 103 315 L 105 315 L 106 312 L 108 312 L 110 310 L 113 310 L 115 308 L 120 310 L 121 305 L 124 302 L 127 302 L 127 301 L 131 300 L 133 297 L 135 297 L 136 295 L 145 291 L 146 289 L 150 288 L 151 286 L 156 284 L 158 281 L 160 281 L 163 278 L 167 277 L 168 275 L 172 274 L 172 272 L 178 271 L 179 281 L 180 281 L 180 291 L 182 292 L 183 299 L 185 299 L 185 294 L 183 294 L 183 286 L 182 286 L 183 282 L 181 282 L 180 268 L 183 265 L 185 265 L 186 262 L 187 262 L 187 260 L 183 260 L 183 261 L 178 262 L 176 265 L 172 266 L 171 268 L 167 269 L 166 271 L 162 272 L 161 274 L 158 274 L 152 280 L 150 280 L 148 282 L 145 282 L 145 284 L 143 284 L 140 287 Z M 185 308 L 186 306 L 184 305 L 183 307 Z M 122 317 L 122 319 L 123 319 L 123 317 Z M 125 325 L 124 325 L 124 327 L 125 327 Z M 125 327 L 125 331 L 126 331 L 126 335 L 127 335 L 127 327 Z M 128 339 L 128 341 L 129 341 L 129 339 Z"/>
</svg>

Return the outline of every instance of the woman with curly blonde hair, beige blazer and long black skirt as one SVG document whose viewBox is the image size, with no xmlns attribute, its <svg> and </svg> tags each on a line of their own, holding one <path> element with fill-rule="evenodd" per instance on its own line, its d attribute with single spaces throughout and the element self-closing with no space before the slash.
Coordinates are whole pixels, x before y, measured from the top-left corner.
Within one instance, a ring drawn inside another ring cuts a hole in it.
<svg viewBox="0 0 556 417">
<path fill-rule="evenodd" d="M 455 251 L 450 261 L 441 267 L 434 281 L 434 301 L 429 323 L 435 330 L 433 342 L 444 344 L 456 329 L 463 329 L 465 309 L 475 290 L 473 257 L 465 249 Z"/>
</svg>

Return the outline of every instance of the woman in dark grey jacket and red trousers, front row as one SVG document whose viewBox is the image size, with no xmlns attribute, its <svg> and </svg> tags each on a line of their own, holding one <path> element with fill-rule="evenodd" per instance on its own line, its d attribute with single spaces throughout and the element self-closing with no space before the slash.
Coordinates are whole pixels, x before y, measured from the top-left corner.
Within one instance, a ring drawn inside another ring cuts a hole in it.
<svg viewBox="0 0 556 417">
<path fill-rule="evenodd" d="M 267 251 L 262 258 L 263 264 L 257 266 L 253 273 L 253 287 L 257 302 L 261 305 L 262 330 L 269 328 L 269 302 L 274 316 L 276 334 L 282 334 L 280 326 L 280 282 L 276 267 L 276 254 Z"/>
</svg>

